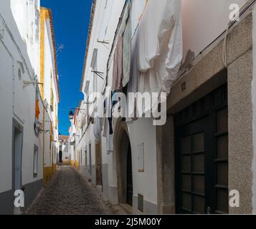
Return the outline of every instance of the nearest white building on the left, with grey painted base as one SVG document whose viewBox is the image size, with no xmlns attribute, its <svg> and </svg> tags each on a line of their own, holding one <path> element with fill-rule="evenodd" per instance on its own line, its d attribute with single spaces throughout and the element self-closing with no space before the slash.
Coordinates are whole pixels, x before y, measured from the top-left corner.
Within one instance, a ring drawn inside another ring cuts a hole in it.
<svg viewBox="0 0 256 229">
<path fill-rule="evenodd" d="M 12 214 L 26 210 L 42 188 L 42 120 L 50 123 L 51 117 L 37 84 L 40 1 L 4 0 L 0 5 L 0 213 Z M 16 190 L 24 192 L 21 208 L 14 207 Z"/>
</svg>

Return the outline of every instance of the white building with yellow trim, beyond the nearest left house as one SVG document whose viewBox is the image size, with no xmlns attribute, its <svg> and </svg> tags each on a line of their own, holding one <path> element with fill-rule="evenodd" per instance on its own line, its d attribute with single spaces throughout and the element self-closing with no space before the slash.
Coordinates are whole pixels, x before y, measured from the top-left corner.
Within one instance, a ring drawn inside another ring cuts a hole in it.
<svg viewBox="0 0 256 229">
<path fill-rule="evenodd" d="M 40 77 L 39 92 L 47 108 L 39 122 L 43 125 L 44 183 L 56 170 L 59 152 L 58 104 L 60 102 L 56 46 L 52 11 L 40 8 Z M 49 119 L 45 118 L 49 117 Z"/>
</svg>

